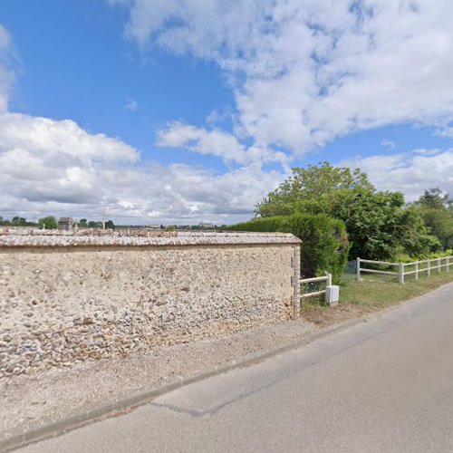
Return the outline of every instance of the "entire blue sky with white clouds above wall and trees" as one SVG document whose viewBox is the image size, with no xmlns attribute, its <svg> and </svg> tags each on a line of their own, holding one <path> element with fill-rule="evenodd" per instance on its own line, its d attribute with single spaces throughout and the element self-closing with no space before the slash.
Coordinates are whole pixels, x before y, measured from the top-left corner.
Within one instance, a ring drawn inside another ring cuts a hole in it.
<svg viewBox="0 0 453 453">
<path fill-rule="evenodd" d="M 232 224 L 295 166 L 453 194 L 451 0 L 1 0 L 0 216 Z"/>
</svg>

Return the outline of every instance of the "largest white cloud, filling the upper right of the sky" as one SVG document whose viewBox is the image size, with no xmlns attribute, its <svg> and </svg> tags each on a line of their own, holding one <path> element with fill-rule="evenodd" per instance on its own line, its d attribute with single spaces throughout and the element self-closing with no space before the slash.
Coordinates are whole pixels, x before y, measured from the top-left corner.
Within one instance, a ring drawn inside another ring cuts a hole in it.
<svg viewBox="0 0 453 453">
<path fill-rule="evenodd" d="M 453 120 L 449 0 L 122 0 L 140 46 L 212 59 L 237 132 L 296 153 L 353 130 Z"/>
</svg>

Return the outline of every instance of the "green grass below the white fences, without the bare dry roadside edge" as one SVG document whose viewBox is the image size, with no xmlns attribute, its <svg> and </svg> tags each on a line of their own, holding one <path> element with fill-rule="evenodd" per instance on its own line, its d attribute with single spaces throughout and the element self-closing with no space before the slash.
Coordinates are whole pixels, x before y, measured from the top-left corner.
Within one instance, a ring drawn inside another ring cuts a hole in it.
<svg viewBox="0 0 453 453">
<path fill-rule="evenodd" d="M 364 275 L 361 282 L 350 278 L 340 286 L 340 304 L 356 304 L 381 309 L 390 305 L 400 304 L 421 294 L 429 293 L 442 284 L 453 282 L 453 269 L 441 274 L 433 272 L 431 276 L 419 275 L 419 280 L 406 276 L 405 284 L 398 283 L 398 277 L 390 275 Z M 323 295 L 302 300 L 301 312 L 313 313 L 328 310 L 323 303 Z"/>
</svg>

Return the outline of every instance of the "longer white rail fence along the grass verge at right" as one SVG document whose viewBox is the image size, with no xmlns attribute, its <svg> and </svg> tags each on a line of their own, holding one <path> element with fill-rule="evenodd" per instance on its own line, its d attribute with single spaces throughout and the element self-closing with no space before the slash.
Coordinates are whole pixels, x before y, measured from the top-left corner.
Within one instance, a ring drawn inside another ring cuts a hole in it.
<svg viewBox="0 0 453 453">
<path fill-rule="evenodd" d="M 451 260 L 451 263 L 450 263 Z M 443 262 L 443 264 L 442 264 Z M 379 269 L 369 269 L 361 267 L 362 263 L 369 263 L 371 265 L 387 265 L 397 267 L 398 272 L 395 271 L 381 271 Z M 414 275 L 416 280 L 419 280 L 419 274 L 426 273 L 431 275 L 431 271 L 437 270 L 438 274 L 442 267 L 449 271 L 450 264 L 453 265 L 453 256 L 445 256 L 443 258 L 425 259 L 422 261 L 414 261 L 412 263 L 390 263 L 387 261 L 373 261 L 371 259 L 357 258 L 357 280 L 361 280 L 361 273 L 369 274 L 383 274 L 383 275 L 398 275 L 400 284 L 404 284 L 405 275 Z M 407 271 L 406 269 L 410 269 Z"/>
</svg>

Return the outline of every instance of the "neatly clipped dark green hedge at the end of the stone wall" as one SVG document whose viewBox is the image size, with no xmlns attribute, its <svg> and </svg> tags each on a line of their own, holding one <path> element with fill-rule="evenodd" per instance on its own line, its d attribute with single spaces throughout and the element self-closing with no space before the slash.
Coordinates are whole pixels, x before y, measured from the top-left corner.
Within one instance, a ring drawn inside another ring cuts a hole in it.
<svg viewBox="0 0 453 453">
<path fill-rule="evenodd" d="M 293 233 L 302 240 L 301 275 L 303 278 L 324 275 L 326 271 L 333 275 L 334 282 L 338 282 L 348 261 L 350 244 L 346 226 L 342 220 L 323 214 L 255 218 L 249 222 L 227 226 L 226 229 Z"/>
</svg>

